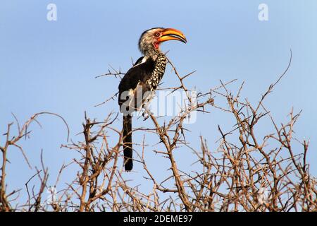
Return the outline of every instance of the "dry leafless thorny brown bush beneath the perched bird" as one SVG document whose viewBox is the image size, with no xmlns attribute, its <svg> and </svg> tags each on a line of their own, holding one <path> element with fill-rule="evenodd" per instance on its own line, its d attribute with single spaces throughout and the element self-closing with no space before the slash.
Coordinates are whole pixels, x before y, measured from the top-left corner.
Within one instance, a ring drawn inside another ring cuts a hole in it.
<svg viewBox="0 0 317 226">
<path fill-rule="evenodd" d="M 292 57 L 290 62 L 291 59 Z M 175 90 L 187 92 L 184 80 L 192 73 L 180 76 L 173 64 L 170 65 L 180 85 L 177 88 L 167 89 L 173 92 Z M 290 64 L 287 69 L 289 66 Z M 170 121 L 159 124 L 156 117 L 150 114 L 151 128 L 135 128 L 134 131 L 142 130 L 146 134 L 157 135 L 161 149 L 155 152 L 157 155 L 167 157 L 170 168 L 166 179 L 159 182 L 144 160 L 144 149 L 147 147 L 144 137 L 143 142 L 137 145 L 137 150 L 142 150 L 142 153 L 137 155 L 135 160 L 143 165 L 147 179 L 152 183 L 153 189 L 149 194 L 144 194 L 137 187 L 130 186 L 130 182 L 123 178 L 121 165 L 123 135 L 121 128 L 113 127 L 113 121 L 118 118 L 118 114 L 111 113 L 101 122 L 92 121 L 85 115 L 83 141 L 63 145 L 63 148 L 74 150 L 80 155 L 70 162 L 79 168 L 77 177 L 68 182 L 66 189 L 58 191 L 56 197 L 48 203 L 42 198 L 44 189 L 49 189 L 46 185 L 47 168 L 42 163 L 42 169 L 37 169 L 37 173 L 33 176 L 39 179 L 38 191 L 32 191 L 30 194 L 26 183 L 26 189 L 22 191 L 28 194 L 27 203 L 20 203 L 13 208 L 10 198 L 20 191 L 6 190 L 6 173 L 10 173 L 6 172 L 8 163 L 6 155 L 13 145 L 22 151 L 27 160 L 18 142 L 29 134 L 27 126 L 32 121 L 36 121 L 39 114 L 31 117 L 21 128 L 19 126 L 18 135 L 13 137 L 9 124 L 5 134 L 6 141 L 0 147 L 2 153 L 0 210 L 316 211 L 317 184 L 316 179 L 309 173 L 306 160 L 309 143 L 298 141 L 293 136 L 294 124 L 299 114 L 291 111 L 289 121 L 278 124 L 263 105 L 263 100 L 273 91 L 285 73 L 269 86 L 255 106 L 240 97 L 243 83 L 237 93 L 232 93 L 228 86 L 235 84 L 235 81 L 228 83 L 220 81 L 218 87 L 212 88 L 207 93 L 199 93 L 195 100 L 187 95 L 187 107 Z M 121 74 L 123 73 L 120 71 L 109 71 L 106 75 Z M 223 98 L 226 102 L 225 107 L 216 105 L 213 101 L 215 97 Z M 111 99 L 113 97 L 108 100 Z M 223 114 L 230 114 L 235 120 L 233 129 L 223 131 L 221 126 L 218 126 L 221 138 L 217 148 L 209 149 L 203 137 L 200 138 L 200 147 L 192 147 L 186 141 L 189 132 L 183 122 L 191 112 L 209 114 L 207 110 L 209 112 L 220 110 Z M 259 122 L 263 120 L 271 121 L 274 133 L 260 135 Z M 193 155 L 190 157 L 193 163 L 198 165 L 199 170 L 192 172 L 188 169 L 184 172 L 178 168 L 175 150 L 182 147 L 192 150 Z M 67 167 L 68 165 L 63 165 L 60 174 Z M 56 184 L 58 181 L 57 178 Z M 166 186 L 166 182 L 170 182 L 170 186 Z"/>
</svg>

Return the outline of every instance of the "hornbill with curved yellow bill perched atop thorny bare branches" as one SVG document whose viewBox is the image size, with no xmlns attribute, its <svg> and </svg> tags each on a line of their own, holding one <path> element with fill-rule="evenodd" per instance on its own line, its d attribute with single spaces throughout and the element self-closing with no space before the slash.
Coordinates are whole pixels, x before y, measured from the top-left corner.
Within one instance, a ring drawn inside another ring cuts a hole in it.
<svg viewBox="0 0 317 226">
<path fill-rule="evenodd" d="M 145 107 L 154 96 L 166 69 L 167 59 L 159 49 L 162 42 L 178 40 L 186 43 L 186 37 L 173 28 L 151 28 L 139 38 L 139 50 L 144 55 L 125 73 L 120 81 L 118 104 L 123 113 L 123 154 L 125 170 L 132 162 L 132 113 Z"/>
</svg>

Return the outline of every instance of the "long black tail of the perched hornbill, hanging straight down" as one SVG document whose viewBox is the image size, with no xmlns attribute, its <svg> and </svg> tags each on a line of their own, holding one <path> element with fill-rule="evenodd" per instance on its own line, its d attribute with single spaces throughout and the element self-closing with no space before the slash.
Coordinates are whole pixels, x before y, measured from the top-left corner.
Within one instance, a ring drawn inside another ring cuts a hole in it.
<svg viewBox="0 0 317 226">
<path fill-rule="evenodd" d="M 133 168 L 132 153 L 132 116 L 128 114 L 123 116 L 123 154 L 126 171 Z"/>
</svg>

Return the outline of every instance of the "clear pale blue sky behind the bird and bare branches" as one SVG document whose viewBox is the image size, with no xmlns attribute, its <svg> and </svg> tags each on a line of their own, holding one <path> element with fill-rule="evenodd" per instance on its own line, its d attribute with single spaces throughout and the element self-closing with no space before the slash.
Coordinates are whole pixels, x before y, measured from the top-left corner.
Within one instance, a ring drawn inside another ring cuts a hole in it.
<svg viewBox="0 0 317 226">
<path fill-rule="evenodd" d="M 57 6 L 56 21 L 46 19 L 50 3 Z M 268 21 L 258 18 L 261 3 L 268 5 Z M 140 57 L 137 40 L 144 30 L 177 28 L 185 33 L 188 43 L 164 43 L 162 49 L 170 50 L 168 56 L 180 73 L 197 70 L 187 80 L 189 88 L 206 91 L 220 79 L 237 78 L 239 83 L 246 82 L 242 95 L 254 103 L 284 71 L 292 49 L 290 71 L 268 97 L 266 107 L 278 122 L 287 120 L 292 107 L 296 112 L 303 109 L 295 131 L 297 138 L 311 140 L 309 162 L 316 176 L 316 9 L 316 0 L 1 1 L 0 133 L 13 121 L 11 112 L 20 122 L 36 112 L 55 112 L 68 122 L 70 138 L 80 139 L 76 134 L 82 131 L 85 111 L 98 120 L 112 110 L 118 112 L 116 102 L 94 107 L 117 92 L 118 79 L 94 76 L 106 73 L 109 64 L 127 71 L 131 57 Z M 171 80 L 171 76 L 163 78 L 164 83 Z M 43 116 L 39 121 L 43 128 L 33 124 L 31 138 L 21 144 L 33 166 L 38 165 L 40 150 L 44 150 L 44 161 L 54 179 L 63 162 L 75 154 L 60 148 L 67 135 L 61 120 Z M 215 147 L 218 124 L 225 129 L 232 126 L 216 111 L 198 117 L 189 126 L 192 145 L 198 148 L 202 135 Z M 116 125 L 120 128 L 120 121 Z M 151 121 L 140 120 L 137 125 L 151 126 Z M 268 126 L 263 125 L 263 131 Z M 1 136 L 0 143 L 3 141 Z M 156 137 L 148 140 L 153 145 L 156 142 Z M 183 152 L 177 159 L 180 167 L 192 162 L 189 150 Z M 24 189 L 35 169 L 27 169 L 18 150 L 10 150 L 9 157 L 9 189 Z M 158 177 L 168 167 L 164 158 L 151 151 L 147 159 Z M 135 164 L 135 171 L 126 177 L 135 184 L 149 183 L 138 175 L 143 174 L 142 165 Z M 74 175 L 66 174 L 63 179 Z"/>
</svg>

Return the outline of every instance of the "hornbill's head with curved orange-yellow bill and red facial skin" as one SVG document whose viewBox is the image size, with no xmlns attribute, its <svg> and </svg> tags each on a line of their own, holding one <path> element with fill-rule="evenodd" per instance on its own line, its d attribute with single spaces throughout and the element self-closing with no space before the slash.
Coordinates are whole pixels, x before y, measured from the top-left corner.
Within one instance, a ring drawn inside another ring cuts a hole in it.
<svg viewBox="0 0 317 226">
<path fill-rule="evenodd" d="M 159 46 L 162 42 L 169 40 L 178 40 L 186 43 L 185 35 L 173 28 L 151 28 L 142 33 L 139 38 L 139 50 L 142 54 L 147 54 L 151 50 L 159 50 Z"/>
</svg>

